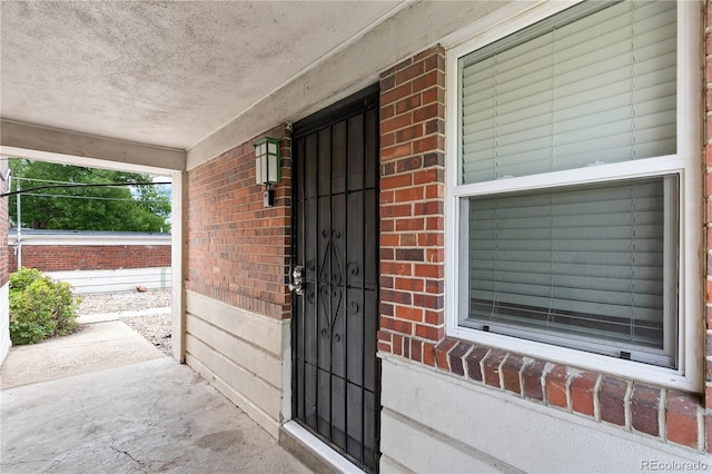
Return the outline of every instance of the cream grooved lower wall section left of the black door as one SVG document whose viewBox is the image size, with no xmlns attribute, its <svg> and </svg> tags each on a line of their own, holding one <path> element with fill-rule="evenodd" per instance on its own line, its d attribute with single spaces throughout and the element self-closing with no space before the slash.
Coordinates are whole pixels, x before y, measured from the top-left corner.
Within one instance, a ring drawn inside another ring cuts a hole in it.
<svg viewBox="0 0 712 474">
<path fill-rule="evenodd" d="M 192 292 L 186 292 L 186 363 L 278 437 L 289 381 L 289 322 Z"/>
</svg>

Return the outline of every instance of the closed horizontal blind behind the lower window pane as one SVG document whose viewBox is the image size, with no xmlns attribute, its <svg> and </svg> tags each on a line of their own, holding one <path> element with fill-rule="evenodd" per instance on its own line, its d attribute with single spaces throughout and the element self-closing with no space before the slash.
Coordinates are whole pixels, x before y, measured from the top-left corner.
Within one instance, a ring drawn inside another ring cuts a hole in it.
<svg viewBox="0 0 712 474">
<path fill-rule="evenodd" d="M 676 196 L 666 176 L 469 197 L 469 320 L 662 350 Z"/>
</svg>

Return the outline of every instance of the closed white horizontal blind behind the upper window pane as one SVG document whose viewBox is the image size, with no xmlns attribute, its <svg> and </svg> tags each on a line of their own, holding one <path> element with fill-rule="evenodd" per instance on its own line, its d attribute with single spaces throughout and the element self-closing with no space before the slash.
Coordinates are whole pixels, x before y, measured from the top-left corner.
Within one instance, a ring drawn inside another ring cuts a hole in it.
<svg viewBox="0 0 712 474">
<path fill-rule="evenodd" d="M 461 184 L 675 154 L 675 2 L 586 8 L 461 59 Z"/>
</svg>

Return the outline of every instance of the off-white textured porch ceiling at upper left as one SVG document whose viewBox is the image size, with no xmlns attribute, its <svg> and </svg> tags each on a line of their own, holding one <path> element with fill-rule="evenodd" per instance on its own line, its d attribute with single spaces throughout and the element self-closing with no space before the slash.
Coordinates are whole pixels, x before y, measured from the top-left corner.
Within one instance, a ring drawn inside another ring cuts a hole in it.
<svg viewBox="0 0 712 474">
<path fill-rule="evenodd" d="M 0 117 L 188 148 L 400 3 L 0 2 Z"/>
</svg>

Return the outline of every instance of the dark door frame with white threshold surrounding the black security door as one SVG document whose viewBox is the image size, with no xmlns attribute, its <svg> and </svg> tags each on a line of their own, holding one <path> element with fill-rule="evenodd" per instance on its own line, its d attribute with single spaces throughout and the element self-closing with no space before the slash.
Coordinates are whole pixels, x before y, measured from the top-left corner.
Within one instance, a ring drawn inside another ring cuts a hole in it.
<svg viewBox="0 0 712 474">
<path fill-rule="evenodd" d="M 352 115 L 354 115 L 357 111 L 366 111 L 369 110 L 372 108 L 375 108 L 377 111 L 379 110 L 379 83 L 374 83 L 372 86 L 368 86 L 362 90 L 359 90 L 358 92 L 355 92 L 342 100 L 338 100 L 337 102 L 299 120 L 298 122 L 294 124 L 294 129 L 293 129 L 293 134 L 291 134 L 291 142 L 294 144 L 296 141 L 296 139 L 300 136 L 306 136 L 309 135 L 313 131 L 319 130 L 323 127 L 332 124 L 332 122 L 336 122 L 339 121 L 340 119 L 347 118 Z M 378 118 L 378 113 L 376 116 L 376 124 L 379 126 L 380 120 Z M 379 141 L 379 132 L 376 132 L 376 140 Z M 379 285 L 379 235 L 380 235 L 380 219 L 379 219 L 379 210 L 378 210 L 378 203 L 379 203 L 379 180 L 380 180 L 380 164 L 379 164 L 379 154 L 380 154 L 380 146 L 379 142 L 376 142 L 376 177 L 375 177 L 375 192 L 376 192 L 376 208 L 374 209 L 374 211 L 376 213 L 376 218 L 375 218 L 375 233 L 376 233 L 376 238 L 374 239 L 374 241 L 376 243 L 376 270 L 377 270 L 377 275 L 376 275 L 376 329 L 379 327 L 378 320 L 379 320 L 379 302 L 380 302 L 380 285 Z M 295 196 L 294 189 L 295 187 L 298 185 L 296 182 L 296 178 L 297 178 L 297 174 L 295 172 L 296 167 L 298 166 L 296 164 L 296 151 L 293 148 L 293 181 L 291 181 L 291 186 L 293 186 L 293 197 Z M 289 267 L 289 279 L 291 278 L 291 271 L 294 269 L 294 266 L 296 265 L 296 255 L 297 255 L 297 245 L 296 245 L 296 236 L 297 236 L 297 219 L 296 219 L 296 206 L 297 203 L 295 199 L 291 200 L 291 253 L 290 253 L 290 267 Z M 288 406 L 289 408 L 289 418 L 290 422 L 288 424 L 285 425 L 285 428 L 287 432 L 289 432 L 291 435 L 294 435 L 297 440 L 301 441 L 305 445 L 307 445 L 309 448 L 312 448 L 314 451 L 314 453 L 316 453 L 319 457 L 322 457 L 324 461 L 326 461 L 327 463 L 329 463 L 330 465 L 333 465 L 334 467 L 338 468 L 342 472 L 353 472 L 354 468 L 356 470 L 360 470 L 360 467 L 358 467 L 356 464 L 354 464 L 350 460 L 348 460 L 343 453 L 338 452 L 337 450 L 335 450 L 334 447 L 332 447 L 332 445 L 329 445 L 328 443 L 324 442 L 322 438 L 319 438 L 317 435 L 313 434 L 309 429 L 307 429 L 306 427 L 304 427 L 301 425 L 301 423 L 299 423 L 296 418 L 296 413 L 297 413 L 297 408 L 296 408 L 296 403 L 297 403 L 297 398 L 294 394 L 294 388 L 297 385 L 297 369 L 296 369 L 296 359 L 297 359 L 297 345 L 295 344 L 296 337 L 297 337 L 297 325 L 294 324 L 295 322 L 295 313 L 296 313 L 296 306 L 295 303 L 298 302 L 298 299 L 296 299 L 296 296 L 291 296 L 291 312 L 290 312 L 290 330 L 289 330 L 289 356 L 290 356 L 290 361 L 289 361 L 289 367 L 290 367 L 290 376 L 289 376 L 289 382 L 290 384 L 289 386 L 289 397 L 288 397 L 288 403 L 286 403 L 285 405 Z M 373 334 L 374 337 L 374 342 L 376 343 L 375 346 L 377 347 L 377 334 L 374 333 Z M 286 355 L 286 354 L 285 354 Z M 374 432 L 375 432 L 375 440 L 374 440 L 374 446 L 375 446 L 375 466 L 374 466 L 374 472 L 378 472 L 379 468 L 379 457 L 380 457 L 380 409 L 382 409 L 382 405 L 380 405 L 380 391 L 382 391 L 382 384 L 380 384 L 380 359 L 377 356 L 377 348 L 376 352 L 374 353 L 373 357 L 375 358 L 375 412 L 376 412 L 376 419 L 375 419 L 375 425 L 374 425 Z"/>
</svg>

